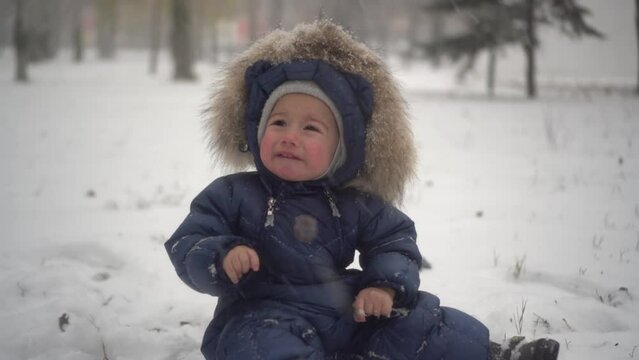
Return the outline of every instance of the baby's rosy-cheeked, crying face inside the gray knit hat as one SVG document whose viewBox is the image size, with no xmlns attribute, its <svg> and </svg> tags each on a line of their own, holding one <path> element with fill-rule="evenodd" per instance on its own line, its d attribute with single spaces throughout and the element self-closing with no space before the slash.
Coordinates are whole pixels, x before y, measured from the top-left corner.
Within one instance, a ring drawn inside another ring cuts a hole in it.
<svg viewBox="0 0 639 360">
<path fill-rule="evenodd" d="M 314 180 L 330 166 L 338 136 L 333 113 L 323 101 L 306 94 L 286 94 L 267 119 L 260 158 L 283 180 Z"/>
</svg>

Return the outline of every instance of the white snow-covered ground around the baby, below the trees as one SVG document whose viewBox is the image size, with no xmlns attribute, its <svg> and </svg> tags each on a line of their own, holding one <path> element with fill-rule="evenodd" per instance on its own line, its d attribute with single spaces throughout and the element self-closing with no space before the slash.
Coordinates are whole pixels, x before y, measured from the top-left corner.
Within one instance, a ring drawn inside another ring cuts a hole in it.
<svg viewBox="0 0 639 360">
<path fill-rule="evenodd" d="M 0 56 L 0 358 L 201 359 L 215 298 L 163 242 L 220 175 L 200 111 L 215 68 L 175 84 L 144 54 L 68 57 L 15 85 Z M 419 146 L 404 210 L 422 289 L 562 360 L 639 359 L 639 99 L 520 90 L 396 66 Z"/>
</svg>

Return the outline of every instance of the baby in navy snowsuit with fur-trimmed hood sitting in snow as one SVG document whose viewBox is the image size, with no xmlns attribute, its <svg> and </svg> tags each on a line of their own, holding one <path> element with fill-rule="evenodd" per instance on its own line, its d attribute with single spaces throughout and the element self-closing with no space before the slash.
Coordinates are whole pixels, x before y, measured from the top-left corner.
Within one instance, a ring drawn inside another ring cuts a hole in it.
<svg viewBox="0 0 639 360">
<path fill-rule="evenodd" d="M 206 359 L 473 359 L 488 330 L 419 291 L 406 106 L 381 60 L 330 22 L 275 31 L 227 68 L 208 131 L 215 180 L 165 246 L 219 297 Z M 355 251 L 362 270 L 347 270 Z"/>
</svg>

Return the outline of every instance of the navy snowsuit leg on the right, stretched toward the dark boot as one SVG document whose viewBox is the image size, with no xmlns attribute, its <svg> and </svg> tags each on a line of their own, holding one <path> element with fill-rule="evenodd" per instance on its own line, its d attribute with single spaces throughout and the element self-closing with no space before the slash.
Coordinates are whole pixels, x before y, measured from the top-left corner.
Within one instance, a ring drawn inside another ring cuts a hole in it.
<svg viewBox="0 0 639 360">
<path fill-rule="evenodd" d="M 435 295 L 420 291 L 414 310 L 362 324 L 352 349 L 364 359 L 486 360 L 488 329 L 468 314 L 440 307 Z"/>
</svg>

